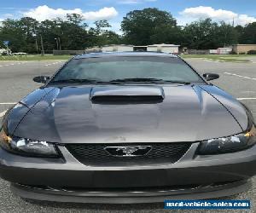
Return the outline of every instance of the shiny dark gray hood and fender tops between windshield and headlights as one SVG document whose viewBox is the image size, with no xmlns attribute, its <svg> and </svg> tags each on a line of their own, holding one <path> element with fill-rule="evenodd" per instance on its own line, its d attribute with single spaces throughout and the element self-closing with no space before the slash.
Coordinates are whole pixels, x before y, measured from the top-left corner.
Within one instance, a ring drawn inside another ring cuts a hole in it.
<svg viewBox="0 0 256 213">
<path fill-rule="evenodd" d="M 101 95 L 137 101 L 93 101 Z M 212 85 L 46 87 L 20 101 L 8 119 L 16 136 L 59 143 L 203 141 L 247 128 L 240 102 Z"/>
</svg>

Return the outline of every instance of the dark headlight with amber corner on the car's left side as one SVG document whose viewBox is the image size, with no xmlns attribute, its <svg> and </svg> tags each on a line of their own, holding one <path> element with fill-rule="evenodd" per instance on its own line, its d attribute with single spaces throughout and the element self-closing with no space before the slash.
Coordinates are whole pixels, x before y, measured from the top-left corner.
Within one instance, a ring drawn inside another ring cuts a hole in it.
<svg viewBox="0 0 256 213">
<path fill-rule="evenodd" d="M 10 137 L 4 130 L 0 131 L 0 146 L 11 153 L 32 157 L 56 158 L 59 157 L 55 145 L 46 141 L 33 141 L 20 137 Z"/>
</svg>

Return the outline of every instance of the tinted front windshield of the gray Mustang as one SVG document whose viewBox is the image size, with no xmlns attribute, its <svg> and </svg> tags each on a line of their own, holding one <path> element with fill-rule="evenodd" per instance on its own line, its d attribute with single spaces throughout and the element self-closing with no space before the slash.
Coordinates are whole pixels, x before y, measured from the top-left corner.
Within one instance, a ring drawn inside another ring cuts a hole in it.
<svg viewBox="0 0 256 213">
<path fill-rule="evenodd" d="M 203 82 L 183 60 L 172 57 L 102 57 L 71 60 L 51 82 Z"/>
</svg>

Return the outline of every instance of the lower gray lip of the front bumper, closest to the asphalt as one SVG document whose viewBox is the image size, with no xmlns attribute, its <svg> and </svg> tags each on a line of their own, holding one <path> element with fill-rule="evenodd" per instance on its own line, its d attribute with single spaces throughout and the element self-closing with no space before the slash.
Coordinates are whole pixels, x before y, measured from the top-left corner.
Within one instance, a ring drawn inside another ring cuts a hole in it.
<svg viewBox="0 0 256 213">
<path fill-rule="evenodd" d="M 58 188 L 28 187 L 11 184 L 12 191 L 22 198 L 57 202 L 136 204 L 163 202 L 165 199 L 211 199 L 247 191 L 251 181 L 236 181 L 218 186 L 143 190 L 143 191 L 71 191 Z"/>
</svg>

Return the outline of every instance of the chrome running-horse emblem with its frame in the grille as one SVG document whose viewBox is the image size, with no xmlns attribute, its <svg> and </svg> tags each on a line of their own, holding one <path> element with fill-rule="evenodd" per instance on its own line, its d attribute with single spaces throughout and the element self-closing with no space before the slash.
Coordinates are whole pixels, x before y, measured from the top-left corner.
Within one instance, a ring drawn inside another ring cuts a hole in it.
<svg viewBox="0 0 256 213">
<path fill-rule="evenodd" d="M 151 146 L 105 147 L 104 149 L 114 157 L 139 157 L 146 155 Z"/>
</svg>

